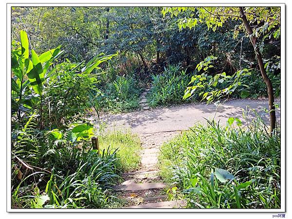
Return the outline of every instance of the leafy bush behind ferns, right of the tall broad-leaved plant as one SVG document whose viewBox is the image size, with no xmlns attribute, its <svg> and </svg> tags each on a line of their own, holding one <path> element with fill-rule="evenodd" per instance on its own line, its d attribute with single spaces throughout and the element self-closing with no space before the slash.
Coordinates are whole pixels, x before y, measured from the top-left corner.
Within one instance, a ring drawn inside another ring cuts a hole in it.
<svg viewBox="0 0 292 219">
<path fill-rule="evenodd" d="M 44 126 L 68 127 L 78 120 L 87 109 L 95 106 L 93 93 L 98 93 L 94 74 L 75 73 L 75 63 L 63 62 L 55 66 L 55 74 L 45 88 L 43 95 Z"/>
</svg>

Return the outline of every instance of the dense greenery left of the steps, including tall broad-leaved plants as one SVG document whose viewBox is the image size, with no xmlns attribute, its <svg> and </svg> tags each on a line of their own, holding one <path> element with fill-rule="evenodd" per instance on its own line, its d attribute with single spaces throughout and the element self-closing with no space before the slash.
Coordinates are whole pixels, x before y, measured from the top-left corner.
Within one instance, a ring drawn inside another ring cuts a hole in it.
<svg viewBox="0 0 292 219">
<path fill-rule="evenodd" d="M 96 130 L 86 119 L 98 108 L 98 65 L 115 55 L 58 62 L 60 47 L 37 55 L 25 31 L 20 40 L 12 50 L 12 207 L 118 206 L 110 186 L 122 170 L 137 168 L 140 142 L 130 133 L 113 133 L 114 142 L 103 136 L 99 155 L 91 150 Z"/>
</svg>

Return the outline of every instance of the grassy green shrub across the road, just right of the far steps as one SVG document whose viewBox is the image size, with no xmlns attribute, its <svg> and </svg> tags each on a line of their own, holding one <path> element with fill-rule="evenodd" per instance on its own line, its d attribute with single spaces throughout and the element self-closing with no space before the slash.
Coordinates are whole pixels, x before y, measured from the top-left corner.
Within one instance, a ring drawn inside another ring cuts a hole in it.
<svg viewBox="0 0 292 219">
<path fill-rule="evenodd" d="M 180 69 L 180 64 L 169 65 L 164 68 L 164 73 L 152 75 L 152 87 L 147 95 L 151 107 L 183 102 L 183 94 L 190 76 Z"/>
</svg>

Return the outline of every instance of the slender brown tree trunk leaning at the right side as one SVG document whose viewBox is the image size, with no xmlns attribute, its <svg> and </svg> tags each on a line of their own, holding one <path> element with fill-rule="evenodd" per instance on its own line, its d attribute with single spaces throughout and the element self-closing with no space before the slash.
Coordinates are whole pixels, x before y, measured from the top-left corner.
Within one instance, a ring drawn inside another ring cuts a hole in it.
<svg viewBox="0 0 292 219">
<path fill-rule="evenodd" d="M 276 126 L 276 112 L 275 112 L 275 106 L 274 106 L 274 91 L 273 91 L 273 85 L 272 81 L 270 80 L 269 76 L 266 73 L 266 70 L 264 68 L 264 63 L 262 59 L 262 55 L 260 54 L 259 48 L 256 46 L 256 36 L 253 35 L 253 30 L 244 14 L 243 8 L 239 7 L 241 19 L 243 21 L 243 24 L 250 35 L 251 42 L 254 46 L 255 52 L 256 52 L 256 58 L 259 65 L 260 72 L 262 74 L 262 77 L 267 85 L 268 89 L 268 96 L 269 96 L 269 110 L 270 110 L 270 133 L 271 135 L 274 132 L 275 126 Z"/>
</svg>

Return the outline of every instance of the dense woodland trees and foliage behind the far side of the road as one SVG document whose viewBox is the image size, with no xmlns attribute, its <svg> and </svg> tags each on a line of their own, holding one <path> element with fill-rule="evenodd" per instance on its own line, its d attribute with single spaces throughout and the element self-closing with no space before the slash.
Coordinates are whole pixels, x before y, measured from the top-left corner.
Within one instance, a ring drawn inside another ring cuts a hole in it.
<svg viewBox="0 0 292 219">
<path fill-rule="evenodd" d="M 254 25 L 252 28 L 258 38 L 258 47 L 263 54 L 275 96 L 279 96 L 279 10 L 255 7 L 246 10 Z M 220 20 L 212 13 L 223 16 L 219 16 Z M 251 83 L 246 81 L 247 77 L 244 78 L 245 82 L 239 81 L 244 85 L 233 86 L 236 93 L 232 97 L 267 96 L 265 83 L 260 80 L 254 48 L 237 14 L 236 7 L 17 7 L 12 10 L 12 36 L 18 39 L 19 29 L 25 28 L 36 51 L 62 44 L 68 52 L 63 57 L 71 62 L 81 62 L 84 58 L 89 60 L 96 53 L 112 54 L 119 51 L 115 60 L 105 64 L 107 73 L 101 76 L 100 89 L 105 98 L 100 98 L 99 102 L 106 111 L 138 109 L 137 95 L 149 82 L 152 84 L 152 97 L 149 100 L 152 107 L 181 103 L 183 100 L 180 95 L 175 94 L 167 100 L 166 96 L 171 95 L 166 92 L 172 93 L 177 85 L 180 90 L 177 93 L 181 93 L 183 86 L 184 89 L 189 86 L 189 78 L 199 74 L 197 65 L 210 56 L 217 59 L 213 60 L 212 67 L 204 70 L 208 76 L 218 73 L 232 76 L 247 69 L 251 72 L 251 79 L 256 79 Z M 264 19 L 270 14 L 273 16 Z M 212 19 L 209 20 L 209 17 Z M 53 28 L 56 31 L 52 32 Z M 185 71 L 182 77 L 178 76 L 182 72 L 177 71 L 173 85 L 168 85 L 172 83 L 171 76 L 165 73 L 169 65 L 180 65 L 180 70 Z M 148 78 L 148 82 L 145 78 Z M 163 84 L 164 88 L 157 88 L 157 83 Z M 228 88 L 226 86 L 231 83 L 220 83 L 220 88 L 216 88 L 213 94 Z M 132 89 L 134 95 L 121 96 L 121 89 L 127 87 Z M 188 89 L 191 91 L 192 88 Z M 240 90 L 237 91 L 237 88 Z M 212 86 L 209 91 L 212 91 Z M 192 92 L 195 94 L 192 98 L 199 100 L 201 92 Z"/>
</svg>

